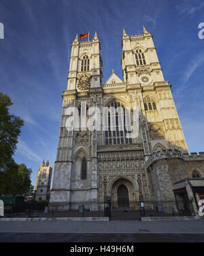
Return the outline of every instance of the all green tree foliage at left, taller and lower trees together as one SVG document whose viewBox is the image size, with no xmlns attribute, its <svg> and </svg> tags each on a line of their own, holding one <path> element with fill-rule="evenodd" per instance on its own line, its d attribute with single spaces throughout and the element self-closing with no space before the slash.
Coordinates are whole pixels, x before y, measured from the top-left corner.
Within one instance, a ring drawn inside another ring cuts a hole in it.
<svg viewBox="0 0 204 256">
<path fill-rule="evenodd" d="M 31 169 L 12 158 L 23 121 L 10 114 L 12 101 L 0 93 L 0 195 L 24 195 L 33 191 Z"/>
</svg>

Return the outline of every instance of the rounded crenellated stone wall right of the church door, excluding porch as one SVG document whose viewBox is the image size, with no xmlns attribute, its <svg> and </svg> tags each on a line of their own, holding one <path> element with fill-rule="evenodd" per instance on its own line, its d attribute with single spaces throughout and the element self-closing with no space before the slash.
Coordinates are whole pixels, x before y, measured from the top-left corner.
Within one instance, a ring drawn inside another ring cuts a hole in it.
<svg viewBox="0 0 204 256">
<path fill-rule="evenodd" d="M 188 155 L 179 150 L 160 150 L 148 159 L 146 168 L 152 176 L 155 199 L 174 200 L 175 182 L 192 177 L 193 170 L 204 176 L 204 154 Z"/>
</svg>

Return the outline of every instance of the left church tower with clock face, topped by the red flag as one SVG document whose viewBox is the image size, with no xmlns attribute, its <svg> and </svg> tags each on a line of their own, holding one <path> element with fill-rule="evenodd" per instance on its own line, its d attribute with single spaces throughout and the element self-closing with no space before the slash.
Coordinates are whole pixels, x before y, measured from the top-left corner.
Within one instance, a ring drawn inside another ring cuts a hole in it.
<svg viewBox="0 0 204 256">
<path fill-rule="evenodd" d="M 71 45 L 51 201 L 97 200 L 97 132 L 67 131 L 65 122 L 67 107 L 78 108 L 80 116 L 84 116 L 81 103 L 86 104 L 85 109 L 91 106 L 101 108 L 103 75 L 100 49 L 97 32 L 88 42 L 79 42 L 76 35 Z"/>
</svg>

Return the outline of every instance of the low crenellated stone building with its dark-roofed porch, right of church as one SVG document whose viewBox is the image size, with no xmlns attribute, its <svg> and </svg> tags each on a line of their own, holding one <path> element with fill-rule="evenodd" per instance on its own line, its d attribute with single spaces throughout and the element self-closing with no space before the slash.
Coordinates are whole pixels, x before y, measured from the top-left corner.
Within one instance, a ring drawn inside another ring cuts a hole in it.
<svg viewBox="0 0 204 256">
<path fill-rule="evenodd" d="M 146 162 L 152 176 L 155 200 L 191 199 L 195 212 L 204 198 L 204 154 L 159 150 Z"/>
</svg>

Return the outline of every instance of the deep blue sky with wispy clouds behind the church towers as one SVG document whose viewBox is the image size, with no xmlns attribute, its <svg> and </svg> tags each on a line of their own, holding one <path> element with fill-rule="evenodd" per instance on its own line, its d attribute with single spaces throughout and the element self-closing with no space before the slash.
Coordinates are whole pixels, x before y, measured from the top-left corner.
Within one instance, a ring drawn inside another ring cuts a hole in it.
<svg viewBox="0 0 204 256">
<path fill-rule="evenodd" d="M 11 112 L 24 120 L 15 160 L 33 170 L 56 157 L 63 90 L 71 42 L 76 33 L 97 30 L 101 42 L 103 82 L 112 69 L 122 78 L 122 28 L 129 35 L 153 35 L 165 80 L 190 152 L 204 151 L 204 1 L 137 0 L 0 0 L 0 91 L 12 98 Z"/>
</svg>

